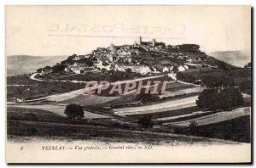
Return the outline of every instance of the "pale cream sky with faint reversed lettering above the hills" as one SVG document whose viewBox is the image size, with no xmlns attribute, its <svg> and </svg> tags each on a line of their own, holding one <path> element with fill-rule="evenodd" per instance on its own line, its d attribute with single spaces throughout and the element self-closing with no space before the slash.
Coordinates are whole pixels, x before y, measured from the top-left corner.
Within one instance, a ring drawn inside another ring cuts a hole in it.
<svg viewBox="0 0 256 168">
<path fill-rule="evenodd" d="M 6 55 L 71 55 L 143 41 L 251 50 L 248 6 L 7 6 Z"/>
</svg>

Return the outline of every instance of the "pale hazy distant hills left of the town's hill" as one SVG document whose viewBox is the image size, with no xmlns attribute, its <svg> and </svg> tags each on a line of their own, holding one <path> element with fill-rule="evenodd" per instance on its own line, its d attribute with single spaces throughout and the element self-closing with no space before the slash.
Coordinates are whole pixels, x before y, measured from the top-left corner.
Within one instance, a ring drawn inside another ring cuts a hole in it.
<svg viewBox="0 0 256 168">
<path fill-rule="evenodd" d="M 7 76 L 17 76 L 36 71 L 46 65 L 54 65 L 67 56 L 29 56 L 14 55 L 6 57 Z"/>
</svg>

